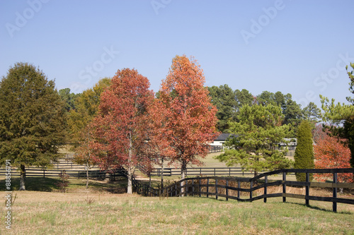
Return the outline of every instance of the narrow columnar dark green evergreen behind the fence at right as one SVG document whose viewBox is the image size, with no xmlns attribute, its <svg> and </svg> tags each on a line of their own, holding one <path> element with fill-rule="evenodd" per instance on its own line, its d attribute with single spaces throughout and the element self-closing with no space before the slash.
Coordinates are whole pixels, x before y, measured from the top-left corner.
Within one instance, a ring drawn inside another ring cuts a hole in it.
<svg viewBox="0 0 354 235">
<path fill-rule="evenodd" d="M 313 169 L 314 168 L 314 147 L 312 141 L 312 127 L 309 121 L 304 120 L 297 130 L 297 147 L 295 150 L 295 169 Z M 310 181 L 312 181 L 310 174 Z M 306 181 L 305 173 L 296 174 L 297 181 Z"/>
</svg>

